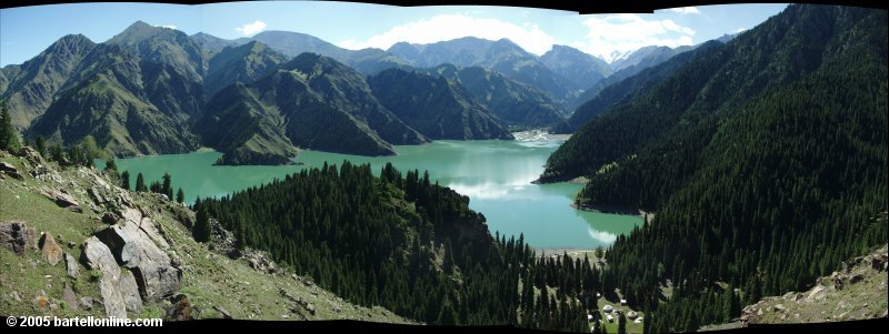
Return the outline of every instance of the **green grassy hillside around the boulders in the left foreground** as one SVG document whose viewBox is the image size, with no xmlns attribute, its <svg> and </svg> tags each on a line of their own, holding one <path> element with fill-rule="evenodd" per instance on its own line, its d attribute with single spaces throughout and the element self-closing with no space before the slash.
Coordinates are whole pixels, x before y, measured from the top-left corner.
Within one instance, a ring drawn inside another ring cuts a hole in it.
<svg viewBox="0 0 889 334">
<path fill-rule="evenodd" d="M 0 158 L 23 171 L 23 161 L 18 158 Z M 52 163 L 54 165 L 54 163 Z M 86 190 L 91 186 L 90 174 L 94 170 L 66 169 L 60 175 L 64 180 L 64 188 L 74 194 L 84 213 L 73 213 L 58 208 L 49 199 L 39 193 L 37 189 L 49 185 L 28 175 L 24 181 L 11 178 L 0 180 L 0 221 L 20 220 L 28 226 L 34 226 L 40 232 L 50 232 L 62 249 L 76 259 L 80 257 L 80 244 L 93 230 L 103 224 L 98 220 L 99 214 L 89 209 L 89 196 Z M 23 173 L 27 174 L 27 173 Z M 76 185 L 71 185 L 74 182 Z M 89 185 L 89 186 L 88 186 Z M 53 185 L 54 188 L 56 185 Z M 291 275 L 270 275 L 251 269 L 243 260 L 230 260 L 224 255 L 208 250 L 206 244 L 200 244 L 191 239 L 191 233 L 173 219 L 170 208 L 177 204 L 159 200 L 148 194 L 130 193 L 133 201 L 143 208 L 152 208 L 152 219 L 159 222 L 166 234 L 171 251 L 182 260 L 182 290 L 191 303 L 201 310 L 200 317 L 221 317 L 213 306 L 222 306 L 236 318 L 291 320 L 300 316 L 291 312 L 298 308 L 309 320 L 337 320 L 351 318 L 376 322 L 406 322 L 403 318 L 381 307 L 358 307 L 343 302 L 332 293 L 314 285 L 307 285 L 302 277 Z M 76 245 L 68 247 L 68 241 Z M 34 263 L 32 266 L 31 263 Z M 46 277 L 44 275 L 51 275 Z M 9 250 L 0 250 L 0 314 L 3 315 L 44 315 L 32 307 L 34 294 L 44 290 L 52 301 L 61 300 L 64 283 L 72 284 L 78 296 L 100 297 L 98 282 L 90 281 L 90 273 L 80 266 L 78 280 L 67 277 L 64 264 L 49 266 L 38 251 L 27 251 L 19 256 Z M 47 284 L 51 284 L 47 287 Z M 316 315 L 312 316 L 294 302 L 281 296 L 283 290 L 289 296 L 302 298 L 312 304 Z M 8 297 L 11 292 L 17 292 L 21 302 Z M 254 306 L 256 305 L 256 306 Z M 98 304 L 97 304 L 98 306 Z M 141 314 L 130 316 L 152 317 L 160 316 L 162 303 L 147 304 Z M 339 307 L 337 307 L 339 306 Z M 340 308 L 340 312 L 336 310 Z M 61 307 L 50 311 L 47 315 L 74 316 L 74 315 L 104 316 L 101 306 L 92 311 L 72 311 Z"/>
</svg>

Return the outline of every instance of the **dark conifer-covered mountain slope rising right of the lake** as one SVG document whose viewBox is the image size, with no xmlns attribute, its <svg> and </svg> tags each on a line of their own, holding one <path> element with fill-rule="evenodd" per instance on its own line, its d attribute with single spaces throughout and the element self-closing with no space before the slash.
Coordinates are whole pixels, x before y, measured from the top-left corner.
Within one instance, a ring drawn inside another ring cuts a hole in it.
<svg viewBox="0 0 889 334">
<path fill-rule="evenodd" d="M 887 40 L 886 11 L 790 6 L 550 156 L 542 180 L 589 176 L 578 204 L 657 212 L 602 277 L 658 308 L 651 330 L 718 321 L 698 312 L 718 307 L 712 282 L 751 303 L 886 242 Z"/>
</svg>

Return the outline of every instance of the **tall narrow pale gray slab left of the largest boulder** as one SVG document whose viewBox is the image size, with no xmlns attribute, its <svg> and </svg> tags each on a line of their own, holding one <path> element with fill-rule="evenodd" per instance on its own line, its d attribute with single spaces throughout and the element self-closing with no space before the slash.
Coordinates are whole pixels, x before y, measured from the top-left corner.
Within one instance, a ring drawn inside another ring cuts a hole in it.
<svg viewBox="0 0 889 334">
<path fill-rule="evenodd" d="M 104 312 L 109 317 L 127 317 L 127 305 L 120 291 L 120 266 L 114 255 L 98 237 L 90 236 L 83 243 L 81 261 L 90 269 L 102 272 L 99 291 L 102 295 Z"/>
</svg>

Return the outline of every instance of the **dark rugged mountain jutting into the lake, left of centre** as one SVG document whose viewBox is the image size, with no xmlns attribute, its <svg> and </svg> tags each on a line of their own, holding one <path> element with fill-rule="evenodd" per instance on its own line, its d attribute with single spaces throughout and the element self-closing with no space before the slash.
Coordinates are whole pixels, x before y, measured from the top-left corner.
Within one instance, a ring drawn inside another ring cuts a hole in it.
<svg viewBox="0 0 889 334">
<path fill-rule="evenodd" d="M 292 145 L 389 155 L 392 144 L 428 141 L 382 107 L 358 72 L 312 53 L 253 84 L 218 93 L 196 130 L 233 164 L 280 163 L 294 152 Z M 248 152 L 264 158 L 250 159 Z"/>
</svg>

